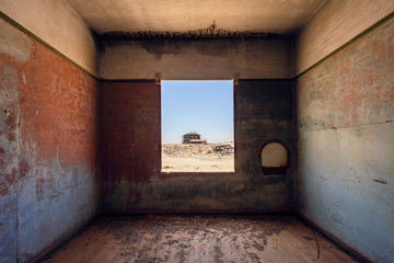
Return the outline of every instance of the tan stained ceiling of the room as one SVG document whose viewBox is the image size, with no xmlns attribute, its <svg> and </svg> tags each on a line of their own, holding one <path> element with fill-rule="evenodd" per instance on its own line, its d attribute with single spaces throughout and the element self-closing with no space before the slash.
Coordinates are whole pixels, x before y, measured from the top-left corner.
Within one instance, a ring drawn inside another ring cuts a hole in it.
<svg viewBox="0 0 394 263">
<path fill-rule="evenodd" d="M 68 0 L 97 33 L 216 28 L 288 35 L 325 0 Z"/>
</svg>

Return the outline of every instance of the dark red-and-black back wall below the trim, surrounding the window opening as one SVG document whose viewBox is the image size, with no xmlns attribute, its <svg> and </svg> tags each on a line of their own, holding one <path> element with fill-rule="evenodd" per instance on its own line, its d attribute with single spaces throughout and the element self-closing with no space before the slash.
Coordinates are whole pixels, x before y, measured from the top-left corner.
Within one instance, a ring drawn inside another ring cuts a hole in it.
<svg viewBox="0 0 394 263">
<path fill-rule="evenodd" d="M 293 176 L 264 175 L 259 151 L 279 139 L 292 152 L 292 82 L 241 80 L 234 90 L 234 173 L 161 173 L 160 87 L 102 87 L 103 206 L 116 213 L 293 209 Z M 292 165 L 290 165 L 292 168 Z"/>
</svg>

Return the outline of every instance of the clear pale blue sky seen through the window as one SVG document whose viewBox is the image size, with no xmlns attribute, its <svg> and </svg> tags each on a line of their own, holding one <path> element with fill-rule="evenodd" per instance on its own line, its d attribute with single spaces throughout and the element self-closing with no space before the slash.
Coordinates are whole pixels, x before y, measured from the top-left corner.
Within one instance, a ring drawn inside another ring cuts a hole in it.
<svg viewBox="0 0 394 263">
<path fill-rule="evenodd" d="M 162 142 L 196 132 L 208 142 L 233 140 L 233 81 L 162 81 Z"/>
</svg>

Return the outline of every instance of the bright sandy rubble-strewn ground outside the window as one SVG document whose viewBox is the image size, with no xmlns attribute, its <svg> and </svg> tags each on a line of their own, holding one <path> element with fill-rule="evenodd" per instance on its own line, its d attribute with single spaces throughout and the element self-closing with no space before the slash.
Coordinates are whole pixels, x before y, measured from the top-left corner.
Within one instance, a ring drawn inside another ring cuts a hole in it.
<svg viewBox="0 0 394 263">
<path fill-rule="evenodd" d="M 234 144 L 162 145 L 162 170 L 164 172 L 233 172 Z"/>
</svg>

